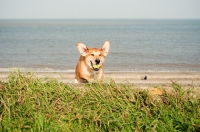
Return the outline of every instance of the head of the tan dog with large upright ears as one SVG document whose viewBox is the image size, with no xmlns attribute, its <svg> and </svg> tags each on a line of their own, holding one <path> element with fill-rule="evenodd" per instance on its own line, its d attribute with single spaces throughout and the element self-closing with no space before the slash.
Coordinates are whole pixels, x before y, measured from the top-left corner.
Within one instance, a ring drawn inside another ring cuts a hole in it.
<svg viewBox="0 0 200 132">
<path fill-rule="evenodd" d="M 110 42 L 106 41 L 102 45 L 101 49 L 88 48 L 82 43 L 77 43 L 76 46 L 81 56 L 85 57 L 87 66 L 95 71 L 98 71 L 102 67 L 105 57 L 109 52 Z"/>
</svg>

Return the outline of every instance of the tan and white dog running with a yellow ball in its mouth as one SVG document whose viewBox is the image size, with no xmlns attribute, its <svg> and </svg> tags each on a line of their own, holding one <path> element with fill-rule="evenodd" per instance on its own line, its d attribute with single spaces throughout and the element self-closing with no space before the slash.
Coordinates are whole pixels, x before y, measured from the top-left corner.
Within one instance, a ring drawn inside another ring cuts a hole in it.
<svg viewBox="0 0 200 132">
<path fill-rule="evenodd" d="M 100 81 L 104 72 L 104 60 L 110 49 L 110 42 L 106 41 L 101 49 L 88 48 L 82 43 L 76 47 L 80 58 L 75 70 L 75 83 L 88 83 Z"/>
</svg>

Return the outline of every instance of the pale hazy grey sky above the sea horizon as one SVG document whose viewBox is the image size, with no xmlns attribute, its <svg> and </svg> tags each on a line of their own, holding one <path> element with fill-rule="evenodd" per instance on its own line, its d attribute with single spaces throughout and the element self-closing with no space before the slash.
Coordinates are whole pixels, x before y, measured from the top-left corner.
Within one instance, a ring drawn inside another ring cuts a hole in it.
<svg viewBox="0 0 200 132">
<path fill-rule="evenodd" d="M 0 0 L 0 19 L 200 19 L 200 0 Z"/>
</svg>

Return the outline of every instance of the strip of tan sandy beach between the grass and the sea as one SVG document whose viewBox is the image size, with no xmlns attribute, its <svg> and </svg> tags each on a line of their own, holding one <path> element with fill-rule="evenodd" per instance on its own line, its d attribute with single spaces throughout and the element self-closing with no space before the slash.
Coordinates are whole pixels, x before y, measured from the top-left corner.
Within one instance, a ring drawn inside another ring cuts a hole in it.
<svg viewBox="0 0 200 132">
<path fill-rule="evenodd" d="M 26 72 L 22 72 L 26 73 Z M 38 78 L 54 78 L 63 83 L 74 83 L 74 72 L 32 72 Z M 0 72 L 0 81 L 6 81 L 9 72 Z M 172 81 L 181 85 L 200 87 L 200 72 L 105 72 L 104 81 L 132 83 L 139 86 L 170 85 Z"/>
</svg>

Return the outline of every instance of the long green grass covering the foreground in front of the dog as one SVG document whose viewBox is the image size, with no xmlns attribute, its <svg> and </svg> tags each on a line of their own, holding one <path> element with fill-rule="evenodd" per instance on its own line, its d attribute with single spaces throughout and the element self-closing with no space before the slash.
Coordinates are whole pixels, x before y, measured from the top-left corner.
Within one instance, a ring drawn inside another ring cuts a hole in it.
<svg viewBox="0 0 200 132">
<path fill-rule="evenodd" d="M 12 72 L 0 83 L 0 131 L 200 131 L 200 96 L 171 86 L 155 99 L 131 84 L 70 85 Z"/>
</svg>

